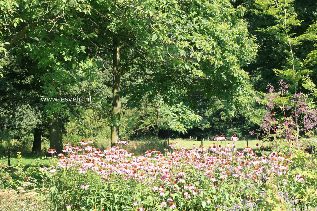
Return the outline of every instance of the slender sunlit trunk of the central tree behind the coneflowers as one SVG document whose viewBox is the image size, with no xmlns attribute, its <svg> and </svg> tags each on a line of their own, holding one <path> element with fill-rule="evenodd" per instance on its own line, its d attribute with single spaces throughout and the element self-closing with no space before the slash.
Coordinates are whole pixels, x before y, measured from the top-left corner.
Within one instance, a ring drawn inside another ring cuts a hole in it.
<svg viewBox="0 0 317 211">
<path fill-rule="evenodd" d="M 113 94 L 113 101 L 112 101 L 112 115 L 117 119 L 120 120 L 120 109 L 121 109 L 121 102 L 120 102 L 120 41 L 118 38 L 113 36 L 113 69 L 112 69 L 112 94 Z M 115 144 L 117 140 L 119 140 L 119 125 L 114 124 L 111 126 L 111 146 Z"/>
</svg>

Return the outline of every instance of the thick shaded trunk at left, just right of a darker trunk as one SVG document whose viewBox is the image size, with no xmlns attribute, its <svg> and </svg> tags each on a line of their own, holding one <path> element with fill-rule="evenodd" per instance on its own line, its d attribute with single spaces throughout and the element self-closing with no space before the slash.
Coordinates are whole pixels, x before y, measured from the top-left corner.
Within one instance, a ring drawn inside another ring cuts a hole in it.
<svg viewBox="0 0 317 211">
<path fill-rule="evenodd" d="M 63 142 L 61 138 L 61 117 L 54 116 L 55 119 L 49 122 L 49 148 L 55 149 L 57 152 L 61 152 L 63 149 Z"/>
</svg>

